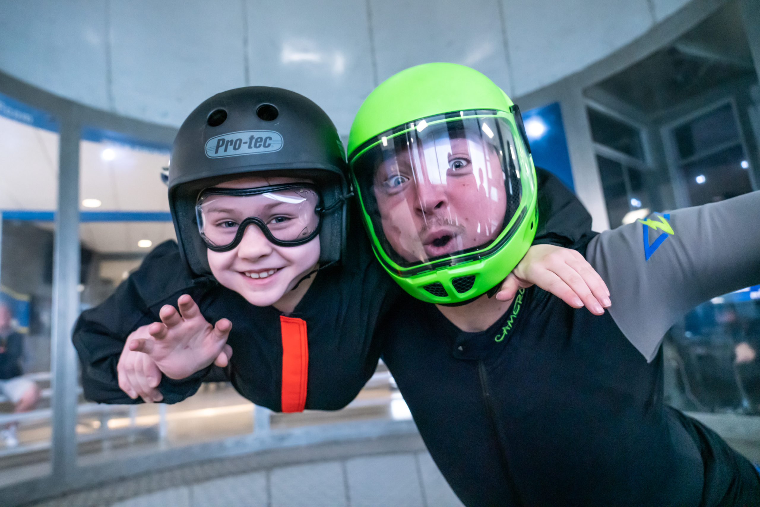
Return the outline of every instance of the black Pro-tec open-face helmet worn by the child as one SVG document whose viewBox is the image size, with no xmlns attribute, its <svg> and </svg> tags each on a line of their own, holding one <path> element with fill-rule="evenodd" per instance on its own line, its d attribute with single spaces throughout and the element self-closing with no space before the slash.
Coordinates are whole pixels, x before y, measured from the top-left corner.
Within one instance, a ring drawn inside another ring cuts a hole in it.
<svg viewBox="0 0 760 507">
<path fill-rule="evenodd" d="M 195 203 L 219 182 L 263 173 L 297 176 L 318 186 L 322 264 L 340 259 L 346 241 L 347 166 L 343 143 L 327 114 L 290 90 L 245 87 L 205 100 L 179 128 L 169 162 L 169 208 L 179 252 L 195 274 L 209 274 Z M 331 206 L 334 206 L 331 208 Z"/>
</svg>

